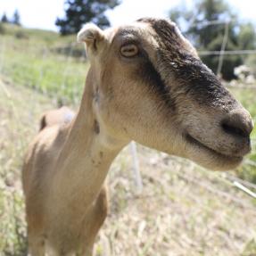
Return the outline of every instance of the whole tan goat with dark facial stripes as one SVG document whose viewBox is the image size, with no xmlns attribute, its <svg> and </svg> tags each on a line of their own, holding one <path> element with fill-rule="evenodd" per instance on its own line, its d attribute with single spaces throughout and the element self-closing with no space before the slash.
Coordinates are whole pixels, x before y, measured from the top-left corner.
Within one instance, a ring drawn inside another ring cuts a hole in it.
<svg viewBox="0 0 256 256">
<path fill-rule="evenodd" d="M 232 169 L 250 151 L 249 113 L 174 23 L 87 25 L 78 40 L 91 62 L 78 115 L 63 124 L 61 111 L 46 114 L 23 166 L 33 256 L 92 254 L 108 210 L 104 179 L 131 140 L 210 169 Z"/>
</svg>

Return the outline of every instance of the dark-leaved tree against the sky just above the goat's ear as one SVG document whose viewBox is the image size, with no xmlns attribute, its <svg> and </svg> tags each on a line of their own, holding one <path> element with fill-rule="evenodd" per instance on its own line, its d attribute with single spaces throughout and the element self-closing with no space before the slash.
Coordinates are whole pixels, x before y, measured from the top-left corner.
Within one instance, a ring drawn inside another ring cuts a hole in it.
<svg viewBox="0 0 256 256">
<path fill-rule="evenodd" d="M 62 35 L 77 33 L 87 22 L 106 28 L 110 21 L 104 13 L 118 4 L 120 0 L 66 0 L 65 17 L 57 18 L 55 24 Z"/>
</svg>

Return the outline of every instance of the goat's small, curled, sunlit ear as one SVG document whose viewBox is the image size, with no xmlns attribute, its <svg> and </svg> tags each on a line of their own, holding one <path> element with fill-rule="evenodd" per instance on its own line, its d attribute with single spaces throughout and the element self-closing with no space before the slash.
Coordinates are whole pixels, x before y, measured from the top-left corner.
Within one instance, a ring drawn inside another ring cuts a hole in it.
<svg viewBox="0 0 256 256">
<path fill-rule="evenodd" d="M 87 23 L 83 29 L 78 32 L 78 43 L 86 43 L 87 48 L 92 48 L 95 51 L 103 39 L 103 30 L 92 23 Z"/>
</svg>

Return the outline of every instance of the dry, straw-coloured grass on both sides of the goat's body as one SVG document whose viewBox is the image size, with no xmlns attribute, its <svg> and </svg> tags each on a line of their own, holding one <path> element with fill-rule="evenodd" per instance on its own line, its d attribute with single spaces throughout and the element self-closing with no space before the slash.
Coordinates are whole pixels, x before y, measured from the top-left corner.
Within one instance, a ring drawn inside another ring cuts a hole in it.
<svg viewBox="0 0 256 256">
<path fill-rule="evenodd" d="M 5 87 L 9 95 L 0 85 L 0 255 L 6 256 L 26 253 L 21 160 L 40 114 L 55 103 L 23 87 Z M 252 251 L 246 255 L 256 255 L 256 204 L 225 174 L 143 146 L 138 154 L 142 194 L 136 193 L 128 148 L 111 166 L 111 211 L 96 255 L 236 256 L 247 244 Z"/>
</svg>

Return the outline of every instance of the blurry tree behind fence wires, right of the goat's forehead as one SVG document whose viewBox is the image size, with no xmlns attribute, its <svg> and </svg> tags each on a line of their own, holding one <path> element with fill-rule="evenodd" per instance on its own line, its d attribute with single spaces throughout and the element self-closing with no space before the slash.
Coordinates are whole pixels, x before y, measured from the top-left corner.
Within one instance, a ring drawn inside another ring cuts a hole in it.
<svg viewBox="0 0 256 256">
<path fill-rule="evenodd" d="M 176 22 L 186 23 L 186 37 L 193 41 L 195 47 L 202 51 L 220 51 L 225 34 L 225 22 L 211 26 L 206 24 L 211 21 L 228 21 L 226 50 L 241 49 L 237 33 L 239 31 L 238 18 L 230 11 L 232 8 L 224 0 L 197 0 L 195 3 L 193 10 L 181 12 L 181 8 L 178 8 L 170 12 L 170 17 L 173 17 Z M 251 36 L 249 40 L 252 42 Z M 246 44 L 250 45 L 248 42 Z M 218 69 L 219 56 L 204 55 L 202 61 L 211 70 Z M 243 58 L 240 55 L 225 56 L 221 70 L 222 77 L 227 80 L 235 78 L 234 68 L 242 63 Z"/>
</svg>

